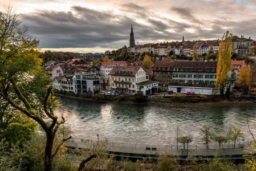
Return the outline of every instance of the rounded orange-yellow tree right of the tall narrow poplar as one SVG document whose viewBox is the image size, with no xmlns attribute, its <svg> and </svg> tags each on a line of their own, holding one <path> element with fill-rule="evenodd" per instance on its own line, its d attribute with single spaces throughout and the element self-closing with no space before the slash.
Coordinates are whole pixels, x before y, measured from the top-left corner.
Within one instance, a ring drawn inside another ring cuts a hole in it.
<svg viewBox="0 0 256 171">
<path fill-rule="evenodd" d="M 250 67 L 245 64 L 244 66 L 239 68 L 238 72 L 239 72 L 238 82 L 243 89 L 243 93 L 247 94 L 248 89 L 252 84 Z"/>
</svg>

